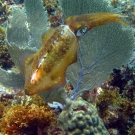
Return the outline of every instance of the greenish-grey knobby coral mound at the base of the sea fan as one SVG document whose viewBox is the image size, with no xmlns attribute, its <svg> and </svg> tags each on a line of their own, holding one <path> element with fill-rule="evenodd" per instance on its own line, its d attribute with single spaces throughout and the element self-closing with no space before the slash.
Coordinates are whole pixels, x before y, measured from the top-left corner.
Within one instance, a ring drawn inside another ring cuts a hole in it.
<svg viewBox="0 0 135 135">
<path fill-rule="evenodd" d="M 59 115 L 58 124 L 69 135 L 109 135 L 96 108 L 81 98 L 65 106 Z"/>
</svg>

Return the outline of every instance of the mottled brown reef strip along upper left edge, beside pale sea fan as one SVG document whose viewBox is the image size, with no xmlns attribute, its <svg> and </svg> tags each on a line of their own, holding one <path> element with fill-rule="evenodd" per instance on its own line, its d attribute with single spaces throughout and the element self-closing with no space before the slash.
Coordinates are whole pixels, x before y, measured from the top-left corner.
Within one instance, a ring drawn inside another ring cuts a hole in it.
<svg viewBox="0 0 135 135">
<path fill-rule="evenodd" d="M 8 1 L 9 2 L 9 1 Z M 6 37 L 6 21 L 11 7 L 7 1 L 0 1 L 0 67 L 7 70 L 14 66 L 14 63 L 8 52 Z"/>
</svg>

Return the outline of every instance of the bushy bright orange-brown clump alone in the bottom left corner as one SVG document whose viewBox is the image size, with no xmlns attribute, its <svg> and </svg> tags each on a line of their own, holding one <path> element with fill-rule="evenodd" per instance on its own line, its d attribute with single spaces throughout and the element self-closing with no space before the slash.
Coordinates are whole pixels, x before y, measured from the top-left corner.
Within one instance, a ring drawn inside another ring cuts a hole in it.
<svg viewBox="0 0 135 135">
<path fill-rule="evenodd" d="M 5 109 L 0 128 L 8 135 L 34 135 L 55 122 L 53 112 L 47 106 L 15 105 Z"/>
</svg>

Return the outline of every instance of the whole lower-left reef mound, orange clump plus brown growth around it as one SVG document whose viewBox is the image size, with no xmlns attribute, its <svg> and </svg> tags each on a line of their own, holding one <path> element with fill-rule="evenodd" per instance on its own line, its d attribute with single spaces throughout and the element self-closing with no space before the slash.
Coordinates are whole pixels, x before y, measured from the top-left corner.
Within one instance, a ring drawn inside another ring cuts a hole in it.
<svg viewBox="0 0 135 135">
<path fill-rule="evenodd" d="M 7 135 L 64 135 L 57 127 L 57 113 L 38 95 L 4 106 L 0 102 L 0 133 Z M 3 111 L 3 112 L 2 112 Z"/>
</svg>

